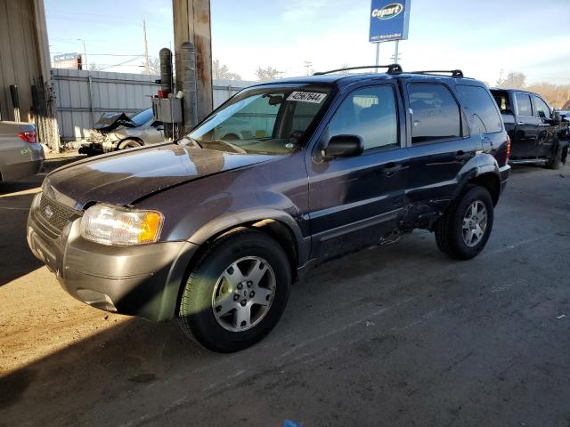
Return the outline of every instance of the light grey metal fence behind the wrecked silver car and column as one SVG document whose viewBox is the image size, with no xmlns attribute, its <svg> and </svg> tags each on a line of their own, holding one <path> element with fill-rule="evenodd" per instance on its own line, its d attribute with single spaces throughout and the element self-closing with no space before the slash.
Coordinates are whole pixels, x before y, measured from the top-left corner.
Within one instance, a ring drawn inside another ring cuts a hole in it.
<svg viewBox="0 0 570 427">
<path fill-rule="evenodd" d="M 2 1 L 2 0 L 0 0 Z M 159 89 L 154 81 L 159 76 L 141 74 L 53 69 L 57 118 L 63 141 L 80 141 L 102 113 L 125 111 L 134 113 L 151 107 L 150 96 Z M 214 81 L 214 108 L 232 94 L 253 82 Z"/>
</svg>

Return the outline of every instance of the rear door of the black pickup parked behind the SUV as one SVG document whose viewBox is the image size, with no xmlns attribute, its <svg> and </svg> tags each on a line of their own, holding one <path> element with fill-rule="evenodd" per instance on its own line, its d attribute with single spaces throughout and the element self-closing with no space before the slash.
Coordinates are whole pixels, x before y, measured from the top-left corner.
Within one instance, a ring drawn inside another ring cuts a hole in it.
<svg viewBox="0 0 570 427">
<path fill-rule="evenodd" d="M 533 116 L 533 103 L 528 93 L 515 93 L 515 139 L 511 141 L 513 159 L 536 157 L 535 146 L 540 120 Z"/>
</svg>

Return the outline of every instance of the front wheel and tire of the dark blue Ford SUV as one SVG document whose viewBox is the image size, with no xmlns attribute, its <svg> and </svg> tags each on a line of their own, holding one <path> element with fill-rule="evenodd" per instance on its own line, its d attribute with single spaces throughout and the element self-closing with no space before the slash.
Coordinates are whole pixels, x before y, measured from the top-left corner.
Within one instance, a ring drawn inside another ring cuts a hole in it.
<svg viewBox="0 0 570 427">
<path fill-rule="evenodd" d="M 277 324 L 290 285 L 289 259 L 273 238 L 257 230 L 230 233 L 218 238 L 191 270 L 179 323 L 209 350 L 243 350 Z"/>
</svg>

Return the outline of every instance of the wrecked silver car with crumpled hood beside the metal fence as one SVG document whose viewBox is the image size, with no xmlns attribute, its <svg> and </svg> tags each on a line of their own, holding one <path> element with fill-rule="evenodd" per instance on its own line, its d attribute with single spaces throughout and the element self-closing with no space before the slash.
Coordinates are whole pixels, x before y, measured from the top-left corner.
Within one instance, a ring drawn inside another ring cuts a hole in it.
<svg viewBox="0 0 570 427">
<path fill-rule="evenodd" d="M 152 109 L 143 109 L 130 117 L 125 113 L 104 113 L 79 153 L 93 156 L 164 141 L 168 141 L 164 125 L 154 120 Z"/>
</svg>

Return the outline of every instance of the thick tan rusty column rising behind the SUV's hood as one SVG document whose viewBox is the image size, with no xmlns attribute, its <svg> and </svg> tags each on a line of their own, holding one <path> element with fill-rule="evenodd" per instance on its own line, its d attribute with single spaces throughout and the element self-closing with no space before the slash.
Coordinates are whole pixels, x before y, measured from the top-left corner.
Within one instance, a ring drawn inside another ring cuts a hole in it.
<svg viewBox="0 0 570 427">
<path fill-rule="evenodd" d="M 190 42 L 196 49 L 196 103 L 198 120 L 212 111 L 212 32 L 209 0 L 172 0 L 175 28 L 176 90 L 183 89 L 182 45 Z M 186 101 L 183 100 L 186 107 Z"/>
</svg>

